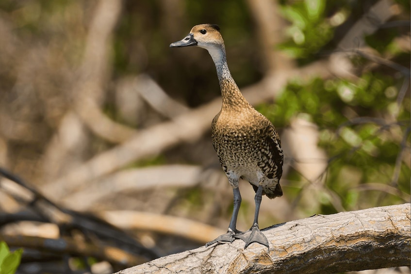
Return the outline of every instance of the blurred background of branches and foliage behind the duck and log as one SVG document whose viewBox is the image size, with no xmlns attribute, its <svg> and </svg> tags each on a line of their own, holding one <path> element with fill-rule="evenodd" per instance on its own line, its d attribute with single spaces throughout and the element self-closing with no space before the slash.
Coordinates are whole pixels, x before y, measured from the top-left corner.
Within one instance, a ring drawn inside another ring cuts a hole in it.
<svg viewBox="0 0 411 274">
<path fill-rule="evenodd" d="M 261 228 L 410 202 L 408 0 L 1 0 L 0 240 L 23 248 L 18 273 L 111 273 L 227 230 L 215 67 L 169 48 L 200 23 L 280 134 L 284 196 L 263 198 Z"/>
</svg>

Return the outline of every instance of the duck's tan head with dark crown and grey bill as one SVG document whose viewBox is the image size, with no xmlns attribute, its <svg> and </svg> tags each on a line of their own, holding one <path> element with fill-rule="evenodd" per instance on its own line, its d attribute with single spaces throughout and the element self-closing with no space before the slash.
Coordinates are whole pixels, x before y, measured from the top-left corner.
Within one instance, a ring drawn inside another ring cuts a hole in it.
<svg viewBox="0 0 411 274">
<path fill-rule="evenodd" d="M 219 29 L 217 25 L 212 24 L 194 26 L 186 37 L 172 43 L 170 47 L 198 46 L 205 49 L 221 48 L 224 45 L 224 40 Z"/>
</svg>

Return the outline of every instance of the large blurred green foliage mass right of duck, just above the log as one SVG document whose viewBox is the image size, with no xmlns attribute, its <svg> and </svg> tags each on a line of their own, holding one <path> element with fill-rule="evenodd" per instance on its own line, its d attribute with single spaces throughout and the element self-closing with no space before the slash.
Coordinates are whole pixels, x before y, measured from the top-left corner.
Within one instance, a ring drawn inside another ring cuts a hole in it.
<svg viewBox="0 0 411 274">
<path fill-rule="evenodd" d="M 390 77 L 371 72 L 355 83 L 316 78 L 304 84 L 289 83 L 275 105 L 263 105 L 259 110 L 279 127 L 288 126 L 295 117 L 318 126 L 319 145 L 331 159 L 326 185 L 339 193 L 347 209 L 356 209 L 361 196 L 353 191 L 360 184 L 394 184 L 410 193 L 410 168 L 405 163 L 399 163 L 399 177 L 392 181 L 395 161 L 405 148 L 398 141 L 409 134 L 410 100 L 405 99 L 398 110 L 397 93 Z M 393 117 L 397 110 L 398 120 L 377 118 Z M 356 114 L 348 118 L 347 113 Z M 354 185 L 343 178 L 345 171 L 353 169 L 360 177 Z M 392 196 L 385 203 L 400 201 Z"/>
</svg>

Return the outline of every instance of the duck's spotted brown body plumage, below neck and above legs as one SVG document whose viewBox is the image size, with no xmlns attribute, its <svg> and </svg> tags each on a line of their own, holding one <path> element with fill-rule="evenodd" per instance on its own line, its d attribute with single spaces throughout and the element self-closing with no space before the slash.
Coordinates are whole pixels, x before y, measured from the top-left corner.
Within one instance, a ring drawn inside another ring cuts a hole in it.
<svg viewBox="0 0 411 274">
<path fill-rule="evenodd" d="M 213 119 L 212 141 L 231 187 L 238 187 L 238 178 L 242 177 L 255 191 L 263 185 L 263 194 L 269 198 L 282 195 L 279 136 L 261 113 L 249 104 L 235 111 L 223 107 Z"/>
</svg>

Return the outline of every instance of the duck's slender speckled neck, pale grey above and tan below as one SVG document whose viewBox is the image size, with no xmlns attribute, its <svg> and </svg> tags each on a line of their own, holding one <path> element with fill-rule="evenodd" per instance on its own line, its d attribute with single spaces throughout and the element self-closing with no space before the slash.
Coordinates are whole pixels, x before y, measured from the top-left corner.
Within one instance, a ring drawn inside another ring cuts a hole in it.
<svg viewBox="0 0 411 274">
<path fill-rule="evenodd" d="M 231 76 L 224 46 L 222 48 L 208 49 L 208 51 L 213 58 L 218 81 L 220 82 L 221 97 L 223 99 L 222 108 L 230 107 L 232 109 L 239 109 L 248 107 L 249 103 L 241 94 L 240 89 Z"/>
</svg>

